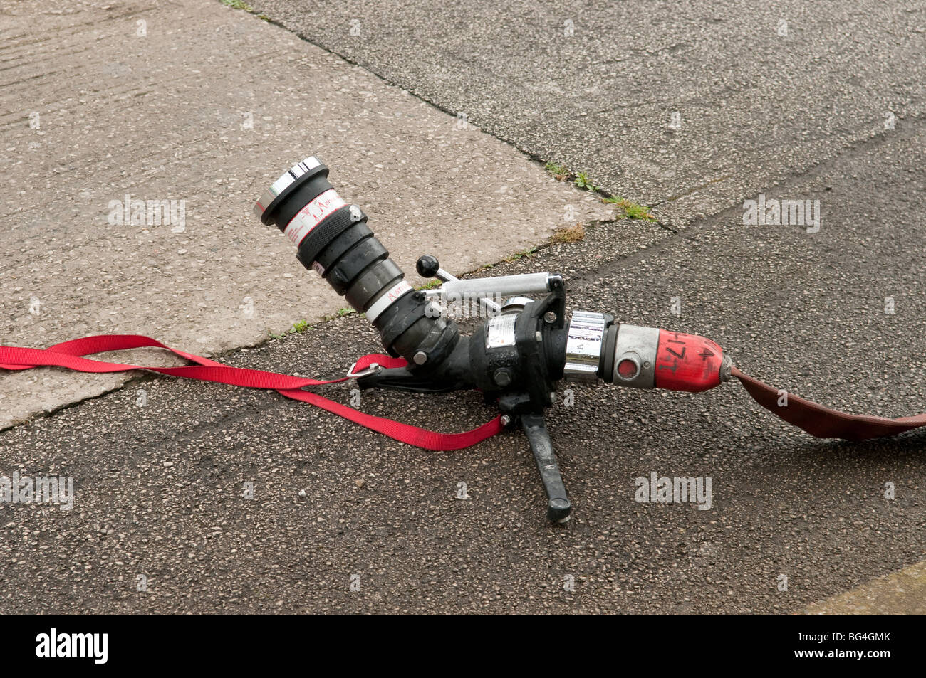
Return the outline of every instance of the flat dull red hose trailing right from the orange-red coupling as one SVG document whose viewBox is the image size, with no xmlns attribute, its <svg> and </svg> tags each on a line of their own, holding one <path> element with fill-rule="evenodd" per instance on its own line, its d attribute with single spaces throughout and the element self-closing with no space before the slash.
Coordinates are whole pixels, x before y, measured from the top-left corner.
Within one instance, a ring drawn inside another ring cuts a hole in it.
<svg viewBox="0 0 926 678">
<path fill-rule="evenodd" d="M 776 388 L 743 374 L 735 367 L 732 368 L 732 376 L 739 379 L 749 395 L 770 413 L 781 417 L 788 424 L 803 428 L 811 436 L 817 438 L 868 440 L 869 438 L 896 436 L 898 433 L 926 425 L 926 414 L 899 419 L 848 414 L 832 410 L 792 393 L 787 394 L 787 404 L 782 401 L 782 405 L 779 405 L 781 395 Z"/>
</svg>

